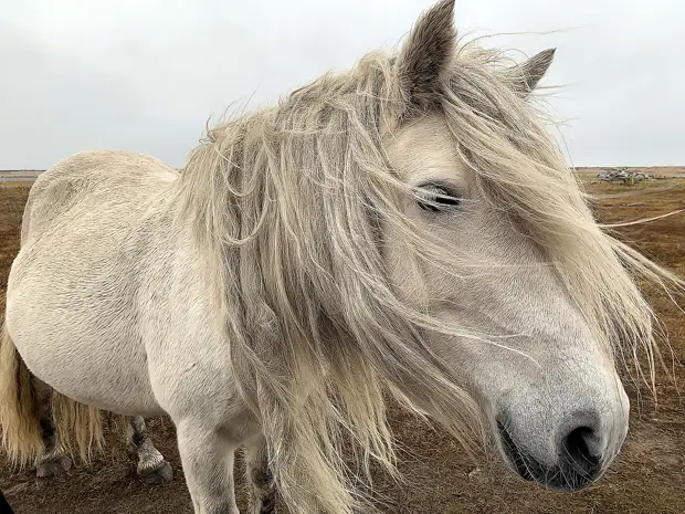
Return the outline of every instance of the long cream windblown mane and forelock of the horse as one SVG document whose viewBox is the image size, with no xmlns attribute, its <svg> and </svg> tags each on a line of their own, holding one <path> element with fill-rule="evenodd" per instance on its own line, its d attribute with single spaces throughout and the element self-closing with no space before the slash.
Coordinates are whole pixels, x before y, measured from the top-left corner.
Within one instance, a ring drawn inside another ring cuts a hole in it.
<svg viewBox="0 0 685 514">
<path fill-rule="evenodd" d="M 384 141 L 417 113 L 407 108 L 396 63 L 369 54 L 209 130 L 177 190 L 179 219 L 193 220 L 217 259 L 234 374 L 292 512 L 359 507 L 357 471 L 344 458 L 350 448 L 363 474 L 370 458 L 394 473 L 386 385 L 413 391 L 400 399 L 428 407 L 465 444 L 483 436 L 477 406 L 425 334 L 487 336 L 407 305 L 388 279 L 388 228 L 432 265 L 450 270 L 464 259 L 403 212 L 414 191 L 391 168 Z M 507 64 L 498 52 L 462 46 L 431 108 L 444 114 L 484 198 L 546 252 L 607 350 L 642 346 L 652 367 L 653 313 L 624 270 L 681 283 L 594 222 Z"/>
</svg>

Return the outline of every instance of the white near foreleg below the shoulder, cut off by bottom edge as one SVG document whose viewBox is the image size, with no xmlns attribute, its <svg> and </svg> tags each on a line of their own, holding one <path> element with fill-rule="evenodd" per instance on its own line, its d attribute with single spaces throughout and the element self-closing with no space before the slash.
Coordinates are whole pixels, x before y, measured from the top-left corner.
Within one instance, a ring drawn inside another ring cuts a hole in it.
<svg viewBox="0 0 685 514">
<path fill-rule="evenodd" d="M 239 444 L 194 420 L 177 423 L 178 448 L 196 514 L 240 514 L 233 459 Z"/>
</svg>

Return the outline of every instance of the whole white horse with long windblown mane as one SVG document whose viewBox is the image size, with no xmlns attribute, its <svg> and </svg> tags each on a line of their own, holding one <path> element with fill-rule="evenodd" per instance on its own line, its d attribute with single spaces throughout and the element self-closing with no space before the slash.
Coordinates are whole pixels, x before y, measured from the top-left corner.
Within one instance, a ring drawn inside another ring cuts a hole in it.
<svg viewBox="0 0 685 514">
<path fill-rule="evenodd" d="M 530 95 L 552 52 L 455 38 L 443 0 L 180 174 L 86 151 L 41 175 L 7 295 L 10 455 L 60 463 L 66 429 L 87 451 L 98 409 L 166 413 L 196 513 L 238 513 L 244 445 L 255 513 L 277 490 L 348 514 L 369 458 L 394 472 L 388 386 L 524 479 L 601 476 L 628 431 L 615 360 L 655 349 L 629 270 L 681 283 L 593 221 Z"/>
</svg>

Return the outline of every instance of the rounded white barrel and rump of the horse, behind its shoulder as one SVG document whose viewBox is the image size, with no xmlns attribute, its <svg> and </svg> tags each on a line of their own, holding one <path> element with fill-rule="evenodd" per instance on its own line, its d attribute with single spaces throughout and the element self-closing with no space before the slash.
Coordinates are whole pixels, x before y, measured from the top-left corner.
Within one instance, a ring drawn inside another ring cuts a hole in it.
<svg viewBox="0 0 685 514">
<path fill-rule="evenodd" d="M 65 159 L 32 188 L 6 323 L 32 373 L 70 398 L 123 415 L 162 412 L 138 306 L 146 234 L 164 238 L 149 207 L 175 178 L 154 159 L 96 151 Z M 65 374 L 74 363 L 76 376 Z"/>
</svg>

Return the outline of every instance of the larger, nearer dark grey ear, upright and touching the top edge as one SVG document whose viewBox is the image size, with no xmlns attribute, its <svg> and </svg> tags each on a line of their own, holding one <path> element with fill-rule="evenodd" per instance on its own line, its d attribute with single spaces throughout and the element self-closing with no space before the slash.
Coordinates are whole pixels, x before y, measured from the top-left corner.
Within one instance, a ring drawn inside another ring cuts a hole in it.
<svg viewBox="0 0 685 514">
<path fill-rule="evenodd" d="M 408 104 L 426 108 L 434 102 L 455 44 L 454 0 L 441 0 L 419 19 L 398 57 L 400 87 Z"/>
</svg>

